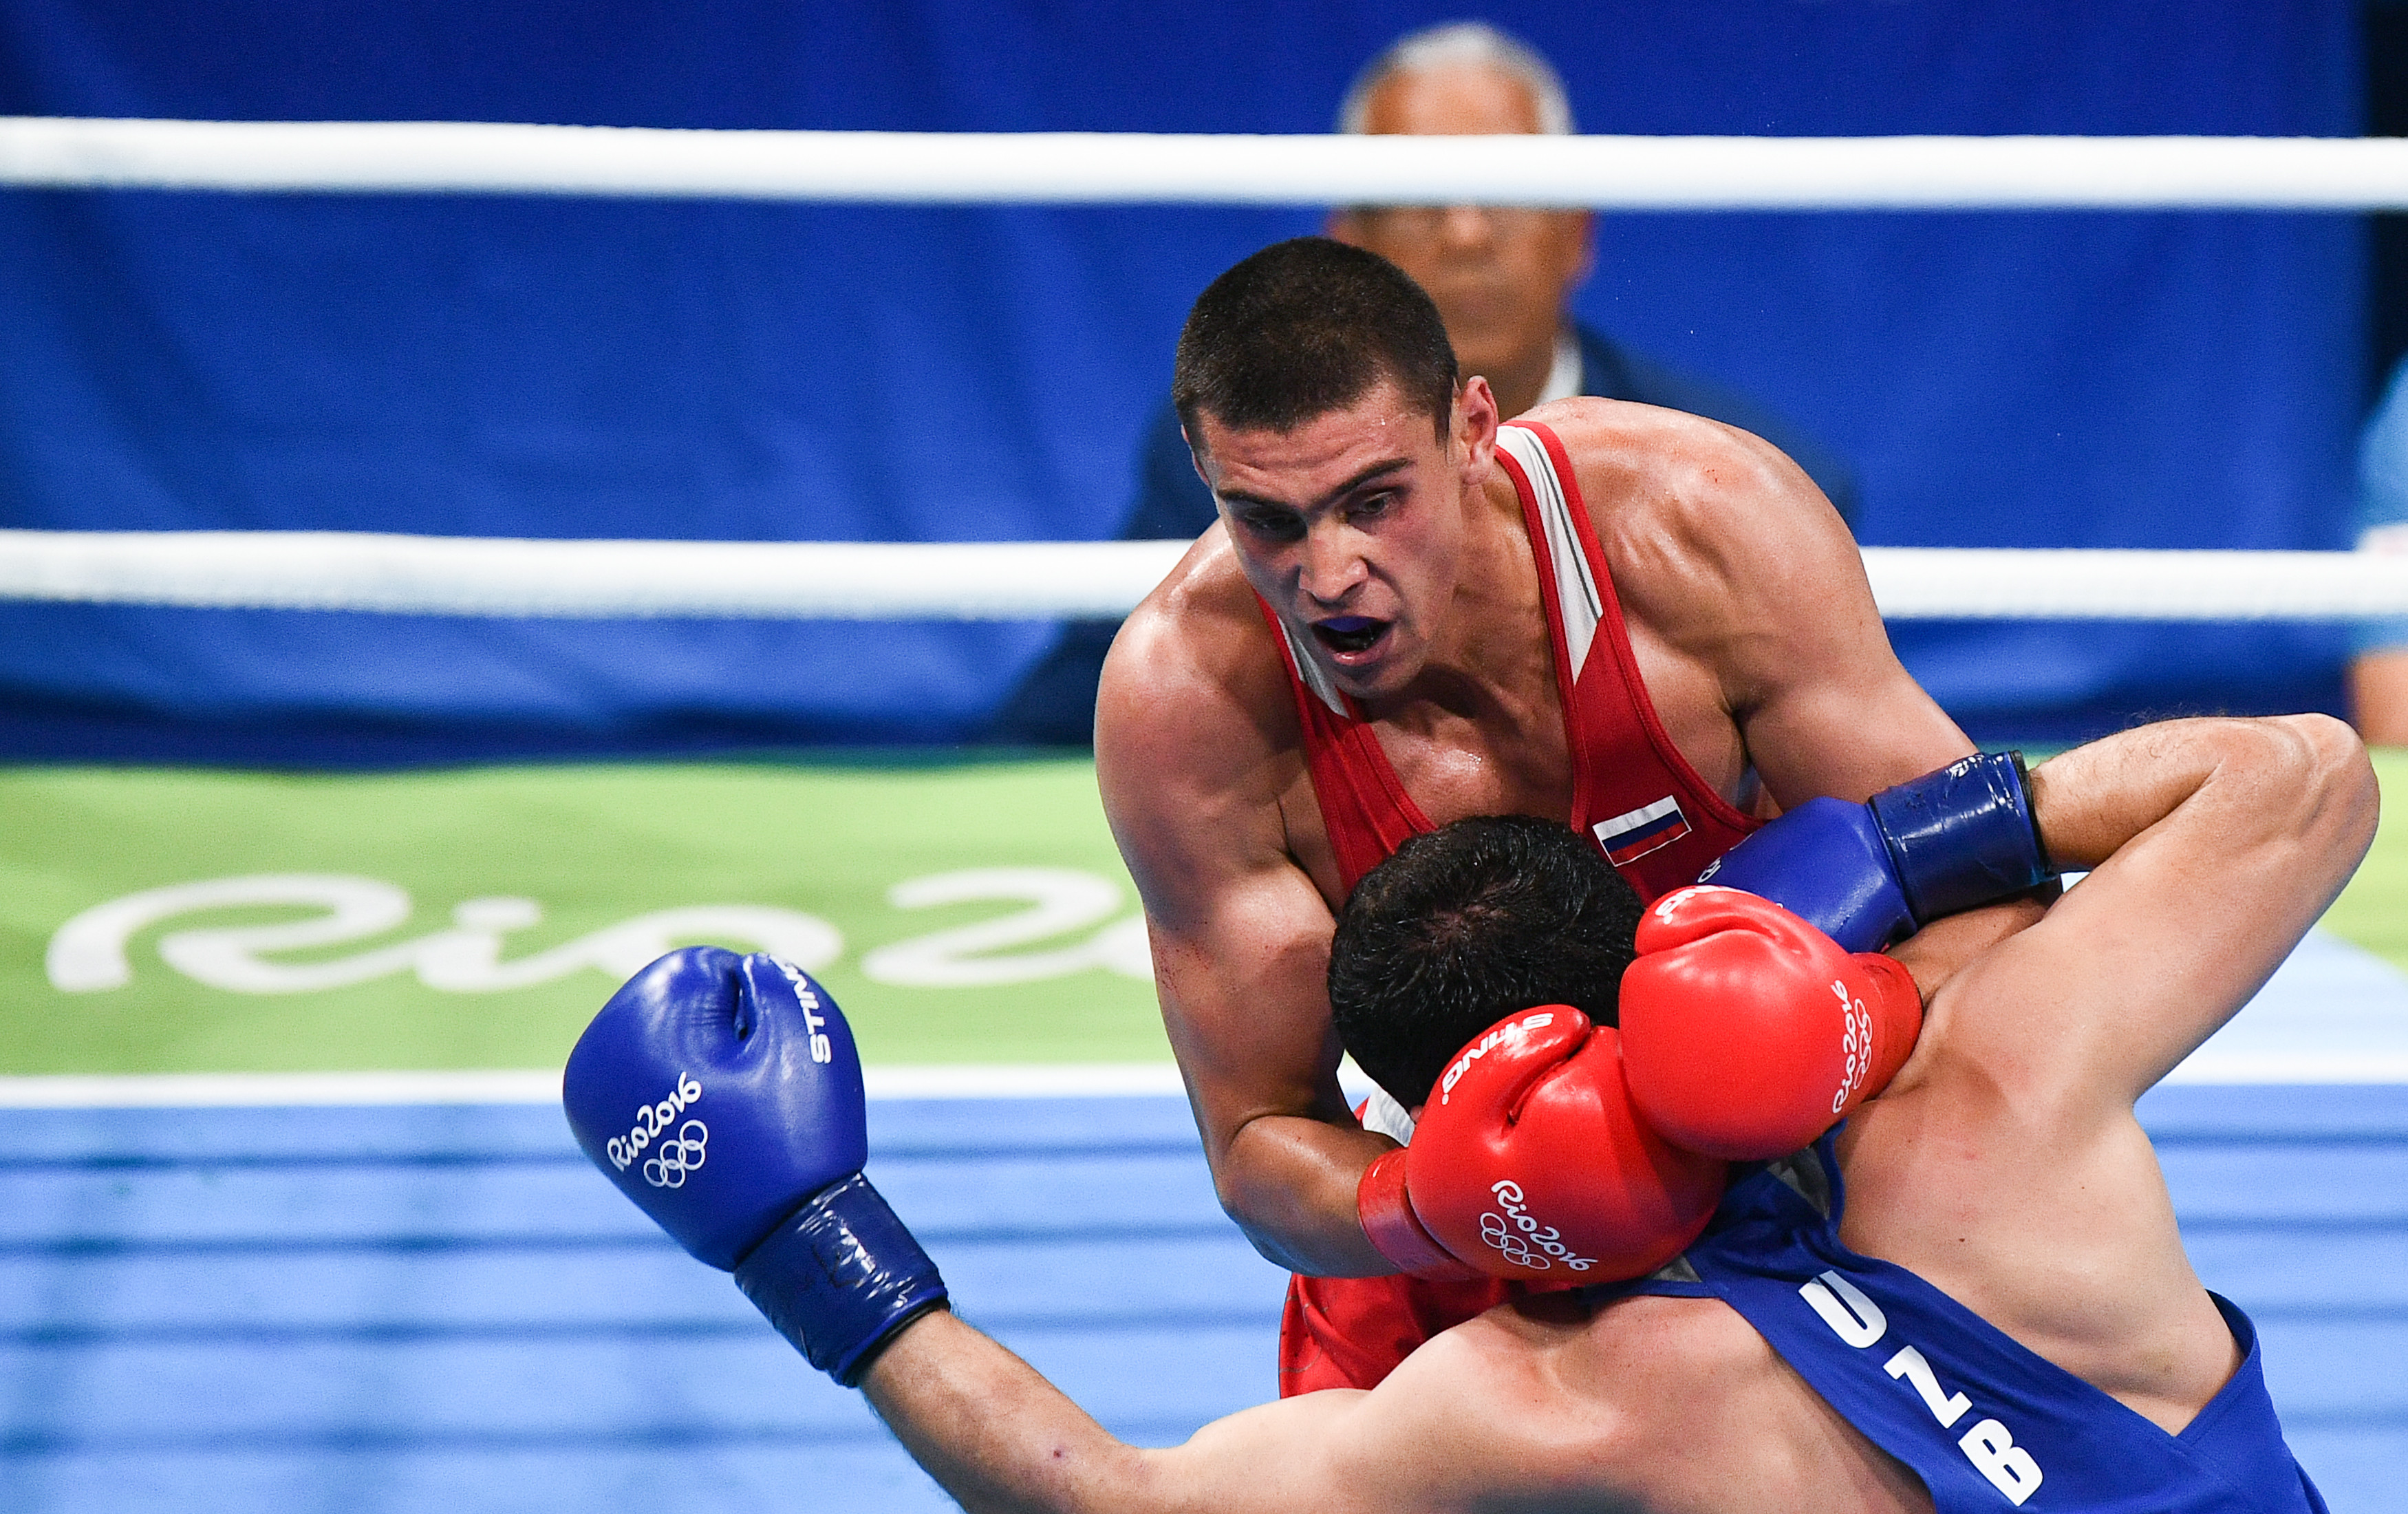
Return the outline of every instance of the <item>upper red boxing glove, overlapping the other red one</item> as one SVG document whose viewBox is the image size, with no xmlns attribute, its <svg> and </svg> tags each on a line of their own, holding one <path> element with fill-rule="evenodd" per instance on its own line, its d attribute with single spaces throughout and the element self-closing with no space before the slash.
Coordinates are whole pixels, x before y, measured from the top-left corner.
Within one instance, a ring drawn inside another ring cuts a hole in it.
<svg viewBox="0 0 2408 1514">
<path fill-rule="evenodd" d="M 1666 893 L 1637 953 L 1621 994 L 1630 1098 L 1671 1143 L 1734 1163 L 1808 1146 L 1888 1086 L 1924 1025 L 1900 963 L 1736 888 Z"/>
</svg>

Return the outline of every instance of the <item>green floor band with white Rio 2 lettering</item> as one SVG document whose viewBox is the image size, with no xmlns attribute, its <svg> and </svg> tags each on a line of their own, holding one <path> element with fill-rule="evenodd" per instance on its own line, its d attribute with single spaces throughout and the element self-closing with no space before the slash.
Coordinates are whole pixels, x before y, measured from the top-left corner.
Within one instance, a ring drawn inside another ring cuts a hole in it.
<svg viewBox="0 0 2408 1514">
<path fill-rule="evenodd" d="M 2408 821 L 2326 929 L 2408 968 Z M 556 1066 L 677 941 L 872 1061 L 1168 1059 L 1086 761 L 0 770 L 0 1074 Z"/>
</svg>

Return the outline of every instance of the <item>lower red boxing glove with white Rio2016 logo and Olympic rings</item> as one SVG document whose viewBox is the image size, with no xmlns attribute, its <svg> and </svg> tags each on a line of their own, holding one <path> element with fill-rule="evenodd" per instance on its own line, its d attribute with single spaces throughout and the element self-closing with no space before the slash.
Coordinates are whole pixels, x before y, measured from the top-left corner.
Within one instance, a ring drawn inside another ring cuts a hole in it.
<svg viewBox="0 0 2408 1514">
<path fill-rule="evenodd" d="M 1719 1160 L 1640 1124 L 1621 1037 L 1553 1004 L 1447 1064 L 1404 1148 L 1413 1213 L 1454 1259 L 1524 1283 L 1640 1278 L 1722 1201 Z"/>
</svg>

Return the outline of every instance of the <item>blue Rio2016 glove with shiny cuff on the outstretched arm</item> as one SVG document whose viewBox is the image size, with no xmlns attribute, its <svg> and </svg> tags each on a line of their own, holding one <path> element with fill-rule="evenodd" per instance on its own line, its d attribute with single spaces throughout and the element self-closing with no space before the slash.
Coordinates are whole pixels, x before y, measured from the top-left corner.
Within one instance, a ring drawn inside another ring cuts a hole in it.
<svg viewBox="0 0 2408 1514">
<path fill-rule="evenodd" d="M 852 1030 L 768 953 L 684 946 L 626 982 L 568 1052 L 578 1146 L 677 1244 L 720 1271 L 814 1367 L 855 1386 L 944 1305 L 886 1208 Z"/>
</svg>

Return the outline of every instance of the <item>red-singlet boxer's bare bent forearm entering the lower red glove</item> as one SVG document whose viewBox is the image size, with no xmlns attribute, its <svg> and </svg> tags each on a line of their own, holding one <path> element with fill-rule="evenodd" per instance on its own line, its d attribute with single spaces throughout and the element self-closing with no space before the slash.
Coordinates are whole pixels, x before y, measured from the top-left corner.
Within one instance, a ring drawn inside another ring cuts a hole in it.
<svg viewBox="0 0 2408 1514">
<path fill-rule="evenodd" d="M 1264 1259 L 1315 1278 L 1397 1271 L 1356 1213 L 1363 1167 L 1394 1141 L 1303 1114 L 1262 1114 L 1221 1148 L 1214 1187 Z"/>
</svg>

